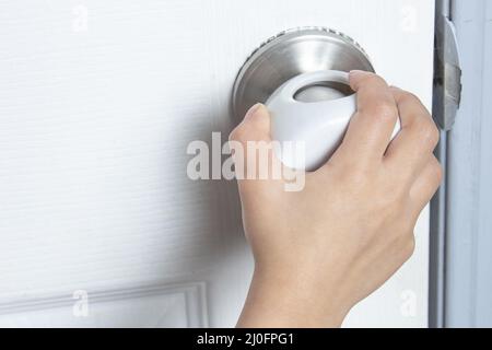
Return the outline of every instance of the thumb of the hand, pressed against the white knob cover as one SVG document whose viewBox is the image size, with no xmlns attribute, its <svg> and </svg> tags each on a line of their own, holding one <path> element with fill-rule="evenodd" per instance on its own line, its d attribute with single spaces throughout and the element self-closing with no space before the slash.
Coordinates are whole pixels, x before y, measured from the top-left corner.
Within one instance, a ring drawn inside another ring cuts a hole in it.
<svg viewBox="0 0 492 350">
<path fill-rule="evenodd" d="M 248 110 L 243 121 L 231 132 L 230 143 L 239 189 L 259 185 L 260 182 L 255 182 L 258 179 L 280 177 L 274 174 L 281 165 L 270 137 L 270 114 L 262 104 Z"/>
</svg>

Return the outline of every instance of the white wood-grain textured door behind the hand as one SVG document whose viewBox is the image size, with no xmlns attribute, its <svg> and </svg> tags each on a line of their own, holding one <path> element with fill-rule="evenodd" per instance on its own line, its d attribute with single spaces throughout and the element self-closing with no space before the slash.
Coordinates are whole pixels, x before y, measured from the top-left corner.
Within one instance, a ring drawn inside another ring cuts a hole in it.
<svg viewBox="0 0 492 350">
<path fill-rule="evenodd" d="M 237 70 L 297 26 L 349 34 L 431 106 L 433 7 L 2 1 L 0 326 L 233 326 L 253 261 L 235 184 L 188 179 L 188 143 L 226 139 Z M 347 326 L 426 326 L 427 211 L 415 234 Z"/>
</svg>

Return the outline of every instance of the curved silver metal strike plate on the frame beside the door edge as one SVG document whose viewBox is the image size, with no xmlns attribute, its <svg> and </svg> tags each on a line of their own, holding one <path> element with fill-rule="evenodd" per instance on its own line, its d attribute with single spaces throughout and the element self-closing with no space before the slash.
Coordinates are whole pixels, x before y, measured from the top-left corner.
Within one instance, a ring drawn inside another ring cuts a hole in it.
<svg viewBox="0 0 492 350">
<path fill-rule="evenodd" d="M 455 125 L 462 85 L 458 39 L 446 13 L 436 15 L 434 57 L 433 114 L 440 127 L 448 131 Z"/>
</svg>

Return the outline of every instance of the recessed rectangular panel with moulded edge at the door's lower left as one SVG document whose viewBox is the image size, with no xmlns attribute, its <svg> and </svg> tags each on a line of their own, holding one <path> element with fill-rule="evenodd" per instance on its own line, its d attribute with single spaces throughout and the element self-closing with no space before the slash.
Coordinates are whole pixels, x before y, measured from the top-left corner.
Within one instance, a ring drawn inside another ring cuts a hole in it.
<svg viewBox="0 0 492 350">
<path fill-rule="evenodd" d="M 2 302 L 0 326 L 203 328 L 209 325 L 206 290 L 206 282 L 190 282 L 102 291 L 81 290 L 51 298 Z M 145 300 L 149 302 L 145 303 Z M 81 302 L 86 303 L 84 313 L 78 313 Z M 155 307 L 150 307 L 151 304 Z M 112 305 L 110 308 L 108 305 Z M 142 314 L 145 315 L 145 324 L 136 324 L 138 315 Z"/>
</svg>

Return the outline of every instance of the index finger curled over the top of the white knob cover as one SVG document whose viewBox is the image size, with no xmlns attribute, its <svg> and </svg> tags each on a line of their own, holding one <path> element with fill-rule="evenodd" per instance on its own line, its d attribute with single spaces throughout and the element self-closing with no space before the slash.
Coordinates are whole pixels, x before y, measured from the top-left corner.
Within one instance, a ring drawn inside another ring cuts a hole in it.
<svg viewBox="0 0 492 350">
<path fill-rule="evenodd" d="M 360 160 L 382 160 L 398 119 L 395 98 L 387 83 L 374 73 L 352 71 L 350 85 L 358 94 L 358 112 L 340 151 Z"/>
</svg>

